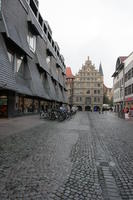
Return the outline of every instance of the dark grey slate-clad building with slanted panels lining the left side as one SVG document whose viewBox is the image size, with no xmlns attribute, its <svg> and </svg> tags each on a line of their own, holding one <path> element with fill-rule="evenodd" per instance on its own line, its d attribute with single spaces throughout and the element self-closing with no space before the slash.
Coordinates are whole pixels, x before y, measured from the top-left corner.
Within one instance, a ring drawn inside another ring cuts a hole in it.
<svg viewBox="0 0 133 200">
<path fill-rule="evenodd" d="M 66 103 L 64 57 L 37 0 L 0 0 L 0 116 Z"/>
</svg>

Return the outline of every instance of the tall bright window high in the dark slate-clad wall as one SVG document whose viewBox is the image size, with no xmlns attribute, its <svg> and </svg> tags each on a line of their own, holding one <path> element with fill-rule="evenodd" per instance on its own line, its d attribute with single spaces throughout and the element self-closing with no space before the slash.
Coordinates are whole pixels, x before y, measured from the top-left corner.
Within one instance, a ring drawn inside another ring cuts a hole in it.
<svg viewBox="0 0 133 200">
<path fill-rule="evenodd" d="M 36 50 L 36 36 L 33 35 L 31 32 L 28 33 L 27 41 L 32 52 Z"/>
</svg>

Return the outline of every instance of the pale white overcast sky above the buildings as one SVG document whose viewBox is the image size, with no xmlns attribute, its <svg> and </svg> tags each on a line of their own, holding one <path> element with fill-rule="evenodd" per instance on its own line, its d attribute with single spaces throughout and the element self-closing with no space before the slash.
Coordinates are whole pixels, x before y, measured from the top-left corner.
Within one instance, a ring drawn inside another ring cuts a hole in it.
<svg viewBox="0 0 133 200">
<path fill-rule="evenodd" d="M 133 0 L 39 2 L 40 13 L 49 22 L 66 66 L 75 74 L 88 56 L 96 69 L 101 61 L 104 82 L 112 87 L 117 57 L 133 50 Z"/>
</svg>

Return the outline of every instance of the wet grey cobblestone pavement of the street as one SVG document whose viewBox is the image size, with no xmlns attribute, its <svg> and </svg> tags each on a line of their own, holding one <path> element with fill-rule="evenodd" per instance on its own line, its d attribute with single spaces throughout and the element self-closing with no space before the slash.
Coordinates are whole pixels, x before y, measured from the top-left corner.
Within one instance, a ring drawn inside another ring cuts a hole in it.
<svg viewBox="0 0 133 200">
<path fill-rule="evenodd" d="M 0 200 L 133 200 L 133 121 L 25 119 L 0 122 Z"/>
</svg>

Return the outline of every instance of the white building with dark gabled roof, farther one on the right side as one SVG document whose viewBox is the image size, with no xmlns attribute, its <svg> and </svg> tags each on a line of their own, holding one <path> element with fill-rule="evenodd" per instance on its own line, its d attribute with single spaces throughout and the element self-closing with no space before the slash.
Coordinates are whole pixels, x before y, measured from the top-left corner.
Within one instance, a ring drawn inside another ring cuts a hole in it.
<svg viewBox="0 0 133 200">
<path fill-rule="evenodd" d="M 120 112 L 125 104 L 125 67 L 124 61 L 127 56 L 117 58 L 115 72 L 113 73 L 113 103 L 115 112 Z"/>
</svg>

